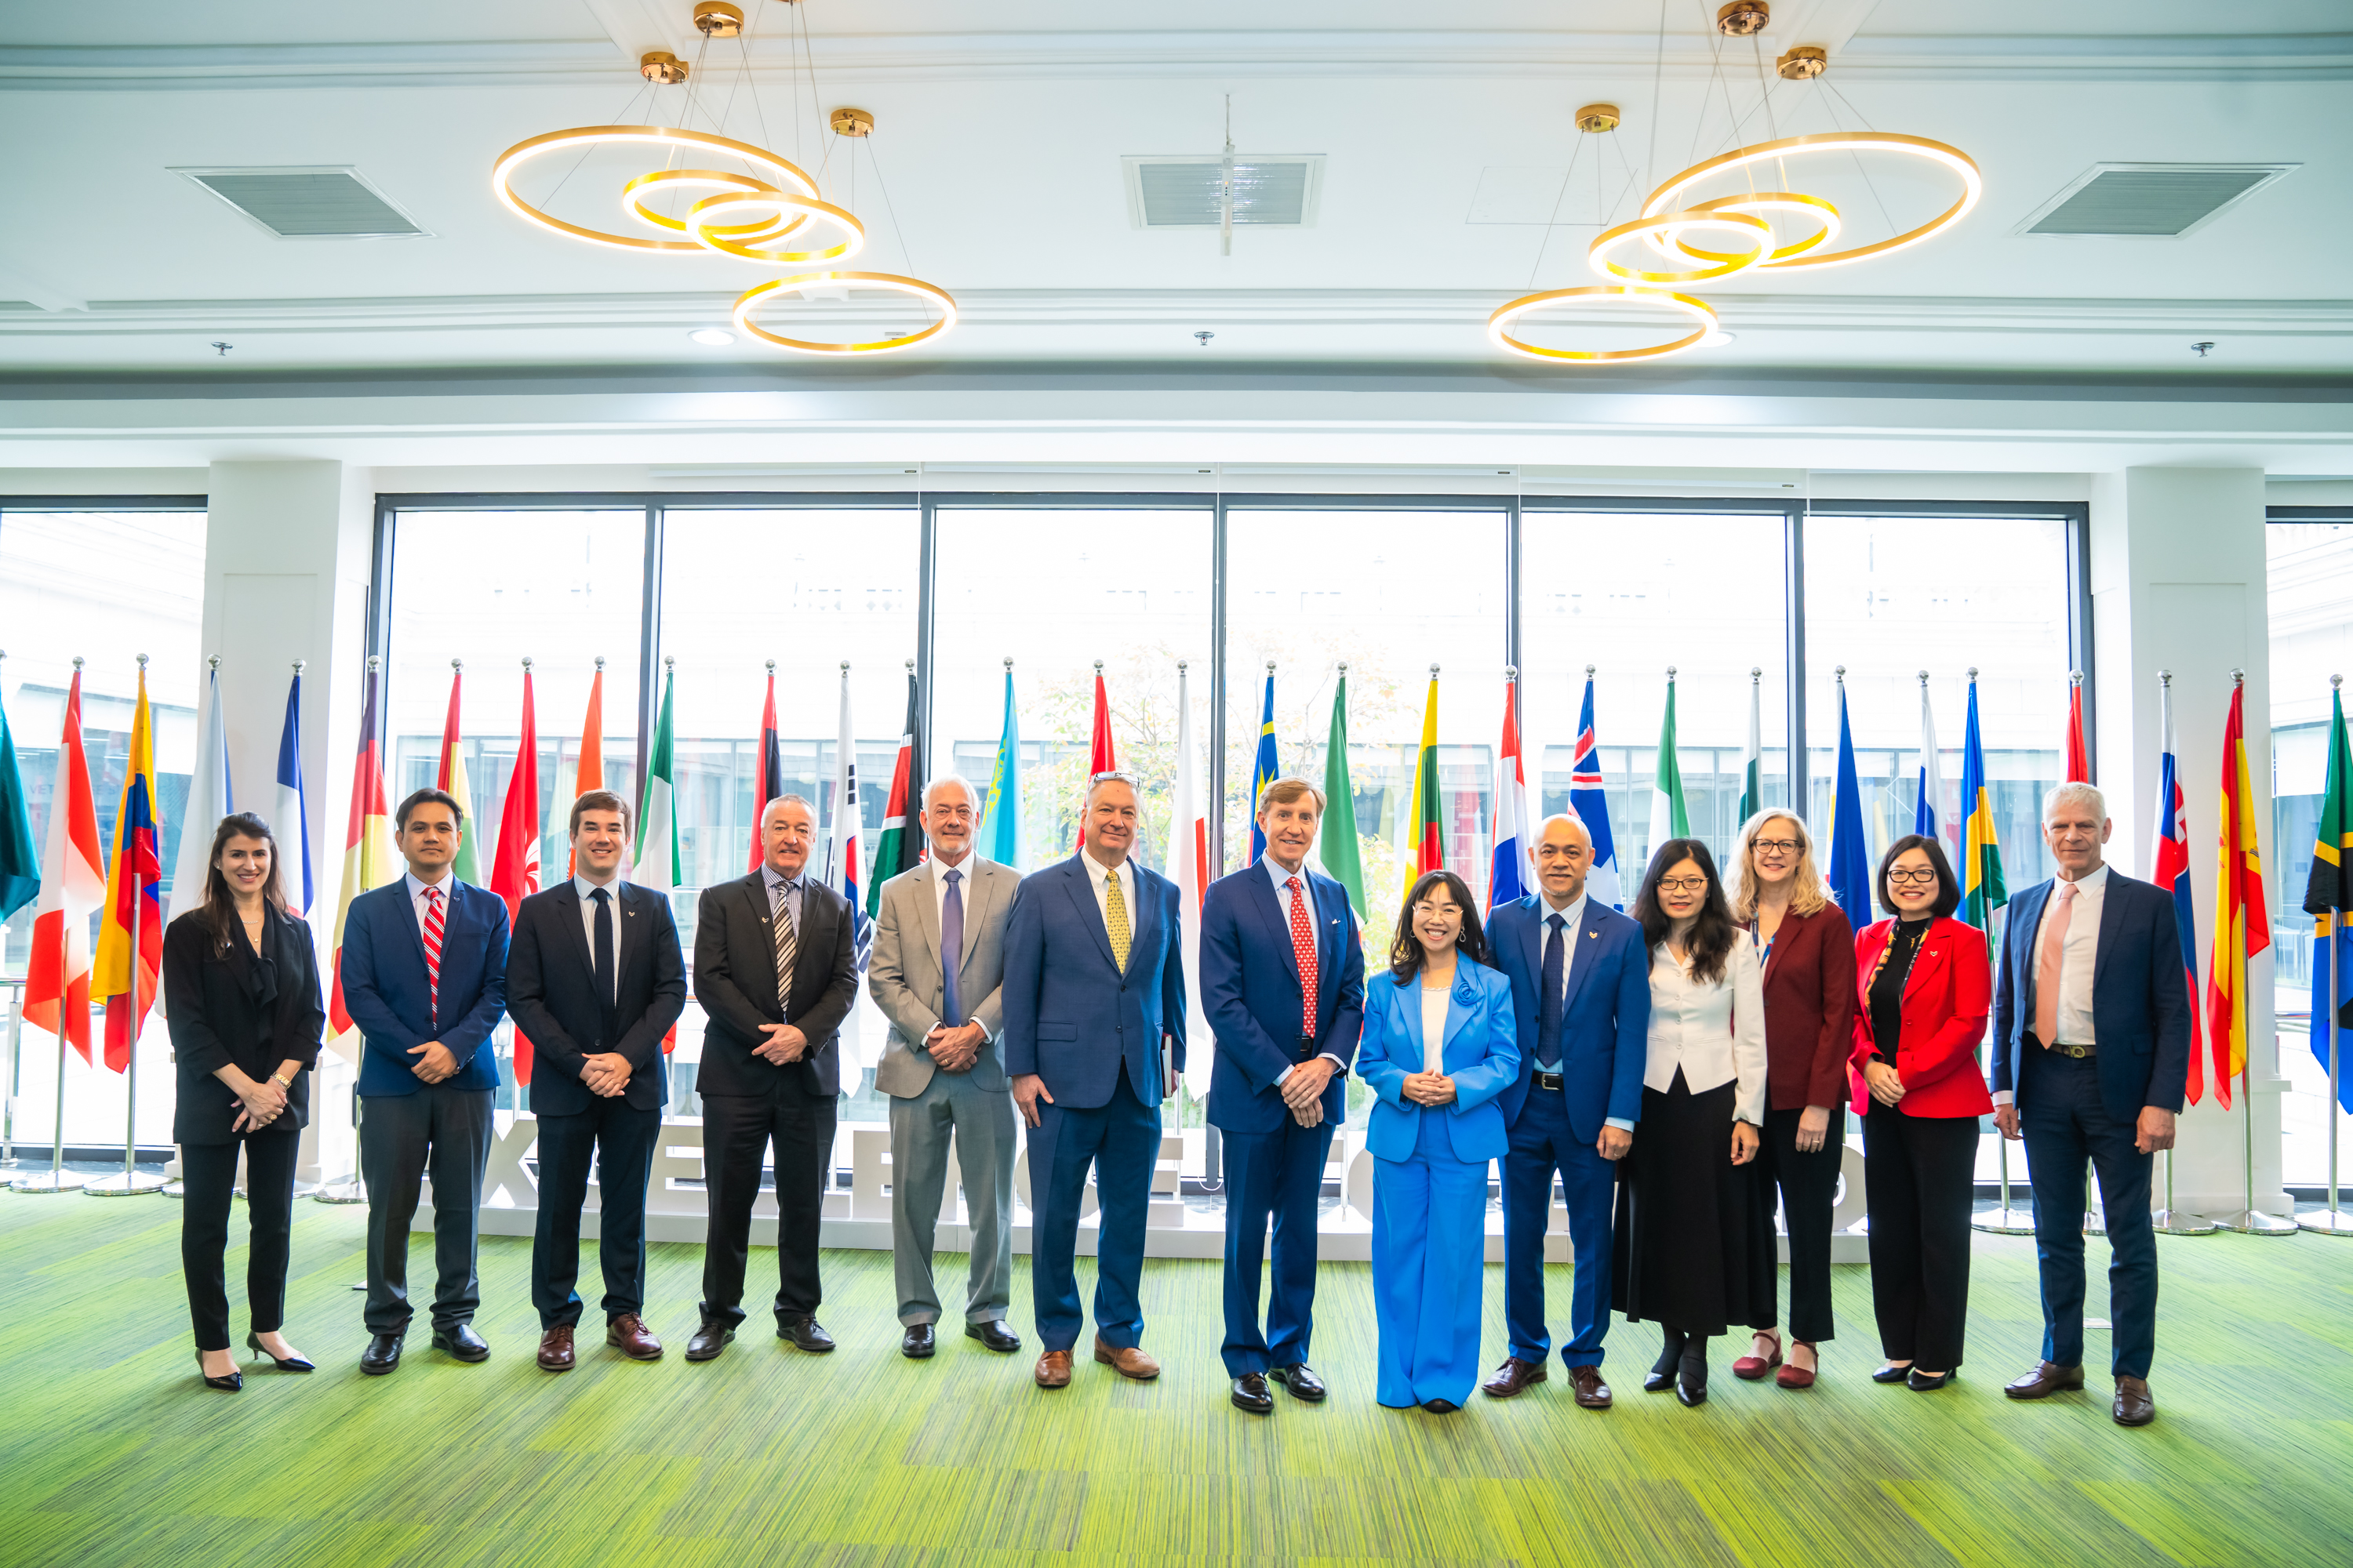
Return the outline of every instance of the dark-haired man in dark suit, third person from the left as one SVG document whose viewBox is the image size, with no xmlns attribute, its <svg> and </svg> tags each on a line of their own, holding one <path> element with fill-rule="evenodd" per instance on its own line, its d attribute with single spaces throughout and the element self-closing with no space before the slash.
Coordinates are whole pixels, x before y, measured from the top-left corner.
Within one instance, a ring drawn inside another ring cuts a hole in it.
<svg viewBox="0 0 2353 1568">
<path fill-rule="evenodd" d="M 621 882 L 628 804 L 612 790 L 572 802 L 572 875 L 515 910 L 506 1006 L 532 1041 L 539 1119 L 539 1227 L 532 1305 L 539 1366 L 572 1371 L 581 1321 L 581 1208 L 598 1173 L 605 1342 L 659 1361 L 645 1326 L 645 1185 L 671 1095 L 661 1037 L 687 1006 L 687 961 L 671 900 Z"/>
</svg>

